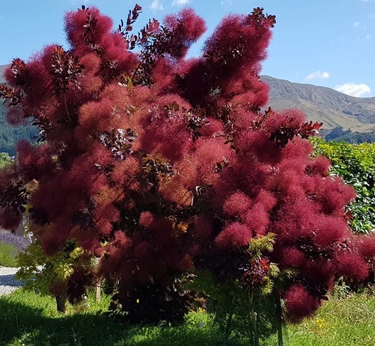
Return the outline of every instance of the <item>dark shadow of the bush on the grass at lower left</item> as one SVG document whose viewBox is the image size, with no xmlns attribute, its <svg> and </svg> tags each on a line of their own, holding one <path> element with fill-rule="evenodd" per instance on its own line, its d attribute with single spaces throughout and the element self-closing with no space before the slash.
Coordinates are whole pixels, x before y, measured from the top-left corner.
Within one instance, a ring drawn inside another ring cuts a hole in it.
<svg viewBox="0 0 375 346">
<path fill-rule="evenodd" d="M 46 316 L 46 308 L 51 307 L 1 297 L 0 345 L 222 345 L 212 326 L 204 321 L 207 317 L 198 314 L 176 326 L 129 326 L 99 313 Z"/>
</svg>

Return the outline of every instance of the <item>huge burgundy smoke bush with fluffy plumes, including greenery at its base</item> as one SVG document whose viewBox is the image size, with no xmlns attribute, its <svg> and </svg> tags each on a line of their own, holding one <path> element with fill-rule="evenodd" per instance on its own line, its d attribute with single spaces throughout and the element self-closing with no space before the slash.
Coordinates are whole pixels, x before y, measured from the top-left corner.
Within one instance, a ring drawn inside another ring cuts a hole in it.
<svg viewBox="0 0 375 346">
<path fill-rule="evenodd" d="M 140 13 L 114 31 L 82 6 L 65 16 L 68 49 L 5 72 L 8 121 L 31 118 L 40 142 L 20 141 L 0 173 L 0 226 L 27 212 L 35 238 L 18 277 L 61 312 L 104 279 L 133 322 L 182 321 L 209 291 L 226 342 L 236 321 L 250 345 L 276 332 L 282 345 L 284 317 L 314 314 L 338 277 L 368 276 L 375 238 L 345 212 L 355 191 L 312 155 L 322 124 L 261 109 L 274 15 L 229 15 L 186 59 L 203 18 L 185 8 L 134 34 Z"/>
</svg>

